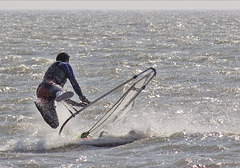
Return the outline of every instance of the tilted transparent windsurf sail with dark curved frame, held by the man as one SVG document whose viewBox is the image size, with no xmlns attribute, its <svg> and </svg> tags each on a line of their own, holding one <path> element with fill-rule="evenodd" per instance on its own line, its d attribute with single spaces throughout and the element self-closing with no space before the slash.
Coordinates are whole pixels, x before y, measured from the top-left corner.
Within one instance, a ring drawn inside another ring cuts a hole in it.
<svg viewBox="0 0 240 168">
<path fill-rule="evenodd" d="M 60 128 L 59 134 L 61 134 L 63 128 L 71 120 L 75 115 L 79 114 L 83 110 L 87 109 L 89 106 L 92 106 L 99 100 L 103 99 L 113 91 L 123 87 L 127 84 L 130 84 L 130 87 L 120 96 L 120 98 L 112 105 L 112 107 L 102 116 L 100 120 L 98 120 L 88 131 L 83 132 L 81 134 L 81 138 L 86 138 L 89 135 L 93 135 L 102 131 L 102 129 L 110 123 L 116 122 L 120 120 L 123 116 L 125 116 L 129 110 L 131 105 L 133 104 L 136 97 L 141 93 L 142 90 L 145 89 L 146 85 L 156 76 L 156 70 L 152 67 L 142 71 L 141 73 L 134 75 L 131 79 L 123 82 L 119 86 L 115 87 L 114 89 L 110 90 L 103 96 L 99 97 L 98 99 L 94 100 L 92 103 L 88 104 L 87 106 L 83 107 L 80 110 L 75 110 L 75 113 L 63 123 Z M 72 110 L 71 110 L 72 111 Z"/>
</svg>

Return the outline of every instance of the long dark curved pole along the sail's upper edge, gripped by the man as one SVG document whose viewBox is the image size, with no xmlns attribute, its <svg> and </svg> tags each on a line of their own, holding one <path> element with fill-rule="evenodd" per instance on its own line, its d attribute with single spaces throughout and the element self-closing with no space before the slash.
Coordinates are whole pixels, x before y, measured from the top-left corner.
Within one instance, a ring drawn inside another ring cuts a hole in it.
<svg viewBox="0 0 240 168">
<path fill-rule="evenodd" d="M 69 120 L 71 120 L 73 117 L 75 117 L 75 115 L 79 114 L 80 112 L 82 112 L 83 110 L 85 110 L 86 108 L 88 108 L 89 106 L 92 106 L 93 104 L 95 104 L 97 101 L 99 101 L 100 99 L 106 97 L 107 95 L 109 95 L 110 93 L 114 92 L 115 90 L 117 90 L 118 88 L 126 85 L 127 83 L 131 82 L 132 80 L 136 79 L 138 76 L 144 74 L 145 72 L 149 71 L 149 70 L 152 70 L 154 72 L 154 75 L 149 79 L 149 81 L 147 81 L 147 83 L 145 85 L 147 85 L 150 80 L 152 80 L 152 78 L 156 75 L 156 70 L 152 67 L 150 68 L 147 68 L 146 70 L 140 72 L 139 74 L 137 75 L 134 75 L 132 78 L 128 79 L 127 81 L 121 83 L 120 85 L 118 85 L 117 87 L 113 88 L 112 90 L 110 90 L 109 92 L 105 93 L 104 95 L 100 96 L 99 98 L 97 98 L 96 100 L 92 101 L 90 104 L 86 105 L 85 107 L 83 107 L 82 109 L 80 110 L 77 110 L 75 113 L 73 113 L 70 117 L 68 117 L 66 119 L 66 121 L 62 124 L 60 130 L 59 130 L 59 135 L 61 135 L 61 132 L 63 130 L 63 128 L 65 127 L 65 125 L 69 122 Z M 145 88 L 145 86 L 144 86 Z M 115 103 L 116 104 L 116 103 Z M 83 133 L 84 134 L 84 133 Z M 82 134 L 82 135 L 83 135 Z"/>
</svg>

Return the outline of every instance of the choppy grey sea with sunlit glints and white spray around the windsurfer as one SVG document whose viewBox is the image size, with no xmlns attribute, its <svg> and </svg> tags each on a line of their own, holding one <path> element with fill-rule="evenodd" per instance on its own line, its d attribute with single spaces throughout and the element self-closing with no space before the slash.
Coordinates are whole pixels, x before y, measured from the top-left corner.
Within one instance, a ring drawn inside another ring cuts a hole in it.
<svg viewBox="0 0 240 168">
<path fill-rule="evenodd" d="M 1 167 L 240 167 L 240 11 L 0 14 Z M 35 91 L 60 51 L 72 56 L 90 100 L 157 69 L 125 124 L 113 128 L 145 138 L 117 147 L 72 144 L 97 110 L 64 136 L 44 123 Z"/>
</svg>

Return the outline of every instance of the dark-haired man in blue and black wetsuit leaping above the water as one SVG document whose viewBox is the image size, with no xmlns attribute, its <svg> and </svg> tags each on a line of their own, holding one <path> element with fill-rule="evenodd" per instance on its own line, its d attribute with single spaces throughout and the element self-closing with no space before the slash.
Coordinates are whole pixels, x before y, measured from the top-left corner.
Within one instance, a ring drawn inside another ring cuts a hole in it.
<svg viewBox="0 0 240 168">
<path fill-rule="evenodd" d="M 35 102 L 37 109 L 40 111 L 44 120 L 52 127 L 57 128 L 59 125 L 54 101 L 62 101 L 73 96 L 73 92 L 64 91 L 63 86 L 67 79 L 72 84 L 75 93 L 83 104 L 87 105 L 90 101 L 83 95 L 81 88 L 74 76 L 71 65 L 69 64 L 70 56 L 67 53 L 57 55 L 54 62 L 46 71 L 42 83 L 37 89 L 37 97 L 40 101 Z"/>
</svg>

